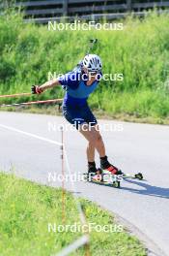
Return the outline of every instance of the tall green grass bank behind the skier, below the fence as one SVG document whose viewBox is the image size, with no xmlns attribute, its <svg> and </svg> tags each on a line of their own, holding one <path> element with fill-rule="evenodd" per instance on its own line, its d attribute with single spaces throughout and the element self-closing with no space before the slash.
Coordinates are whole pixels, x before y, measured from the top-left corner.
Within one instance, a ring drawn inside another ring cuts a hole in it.
<svg viewBox="0 0 169 256">
<path fill-rule="evenodd" d="M 88 40 L 96 37 L 94 52 L 102 59 L 103 73 L 123 74 L 124 80 L 101 80 L 91 107 L 110 116 L 163 122 L 169 117 L 169 15 L 153 12 L 117 22 L 124 22 L 123 31 L 48 31 L 46 25 L 23 23 L 14 12 L 0 16 L 0 94 L 29 92 L 32 84 L 47 80 L 48 72 L 70 71 L 83 58 Z M 61 88 L 55 88 L 39 98 L 61 96 Z M 36 97 L 15 101 L 29 99 Z"/>
</svg>

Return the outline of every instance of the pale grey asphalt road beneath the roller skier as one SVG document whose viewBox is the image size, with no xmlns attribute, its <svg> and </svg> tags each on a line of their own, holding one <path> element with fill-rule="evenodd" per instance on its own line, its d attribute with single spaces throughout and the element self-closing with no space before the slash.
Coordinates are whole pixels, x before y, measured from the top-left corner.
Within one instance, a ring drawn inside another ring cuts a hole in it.
<svg viewBox="0 0 169 256">
<path fill-rule="evenodd" d="M 62 117 L 0 112 L 0 169 L 61 185 L 58 178 L 49 180 L 61 174 L 60 146 L 30 135 L 60 143 L 61 124 L 67 124 Z M 146 180 L 123 181 L 122 189 L 78 180 L 78 196 L 117 213 L 161 249 L 158 255 L 169 255 L 169 127 L 107 120 L 99 124 L 107 130 L 102 136 L 109 160 L 126 173 L 143 173 Z M 65 144 L 71 172 L 86 172 L 86 141 L 68 129 Z M 70 181 L 66 186 L 71 190 Z"/>
</svg>

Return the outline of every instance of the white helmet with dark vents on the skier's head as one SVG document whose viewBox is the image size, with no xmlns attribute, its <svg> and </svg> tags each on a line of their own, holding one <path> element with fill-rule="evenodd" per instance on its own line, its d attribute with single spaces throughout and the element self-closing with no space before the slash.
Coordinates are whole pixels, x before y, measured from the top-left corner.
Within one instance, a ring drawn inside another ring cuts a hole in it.
<svg viewBox="0 0 169 256">
<path fill-rule="evenodd" d="M 89 72 L 100 71 L 102 63 L 100 57 L 96 54 L 88 54 L 83 59 L 83 67 L 87 68 Z"/>
</svg>

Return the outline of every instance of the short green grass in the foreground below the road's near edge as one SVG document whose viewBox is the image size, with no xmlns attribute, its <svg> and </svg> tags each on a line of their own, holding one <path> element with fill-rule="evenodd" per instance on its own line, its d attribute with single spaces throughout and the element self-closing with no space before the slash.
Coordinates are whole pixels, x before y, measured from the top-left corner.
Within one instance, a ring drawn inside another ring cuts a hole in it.
<svg viewBox="0 0 169 256">
<path fill-rule="evenodd" d="M 75 201 L 66 193 L 66 223 L 79 223 Z M 81 199 L 88 223 L 120 225 L 97 205 Z M 14 175 L 0 173 L 0 252 L 2 256 L 47 256 L 60 251 L 80 233 L 48 232 L 48 223 L 62 224 L 62 191 Z M 91 234 L 91 255 L 146 256 L 135 237 L 123 232 Z M 84 248 L 71 255 L 85 255 Z"/>
</svg>

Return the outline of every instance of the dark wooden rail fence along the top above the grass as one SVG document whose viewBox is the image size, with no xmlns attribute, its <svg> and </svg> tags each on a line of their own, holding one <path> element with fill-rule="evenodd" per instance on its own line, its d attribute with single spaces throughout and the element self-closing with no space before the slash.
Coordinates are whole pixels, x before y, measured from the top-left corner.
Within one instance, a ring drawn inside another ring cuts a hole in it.
<svg viewBox="0 0 169 256">
<path fill-rule="evenodd" d="M 12 5 L 12 2 L 13 0 L 4 0 L 0 9 Z M 26 20 L 33 17 L 37 22 L 42 23 L 51 19 L 60 19 L 62 16 L 67 16 L 69 19 L 78 16 L 86 20 L 102 17 L 113 19 L 127 16 L 130 12 L 142 16 L 144 11 L 153 8 L 164 10 L 169 7 L 169 1 L 155 0 L 15 0 L 14 2 L 15 7 L 24 11 Z"/>
</svg>

